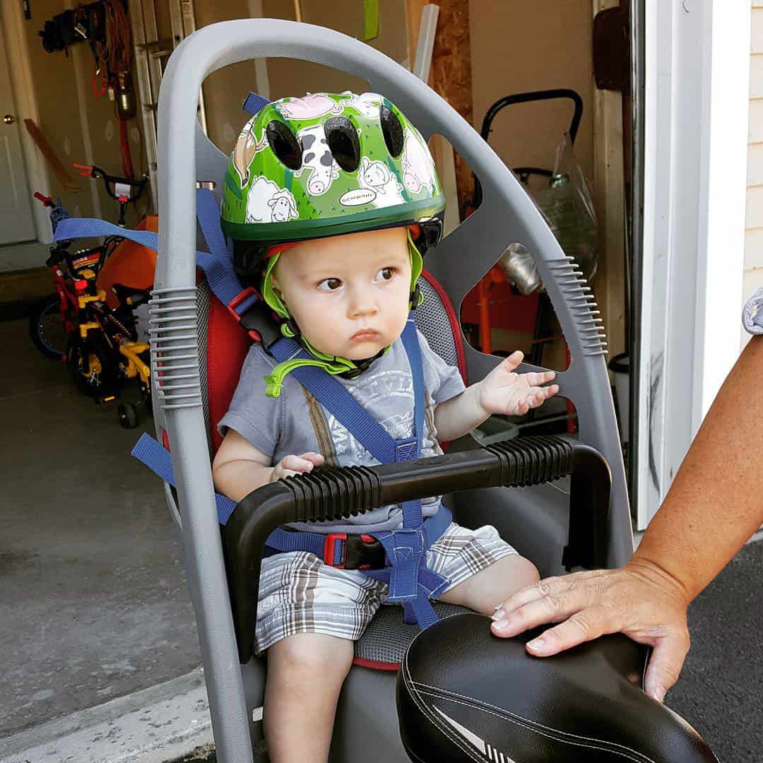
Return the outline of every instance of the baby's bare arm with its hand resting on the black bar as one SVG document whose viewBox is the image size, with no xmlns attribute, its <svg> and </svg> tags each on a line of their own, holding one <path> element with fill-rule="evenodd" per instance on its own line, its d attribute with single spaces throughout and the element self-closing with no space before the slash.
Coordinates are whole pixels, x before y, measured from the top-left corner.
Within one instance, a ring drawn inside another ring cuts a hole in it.
<svg viewBox="0 0 763 763">
<path fill-rule="evenodd" d="M 310 472 L 314 466 L 323 463 L 324 457 L 320 453 L 307 452 L 301 456 L 284 456 L 271 466 L 268 456 L 236 430 L 229 429 L 214 457 L 212 478 L 218 491 L 233 501 L 240 501 L 268 482 Z"/>
</svg>

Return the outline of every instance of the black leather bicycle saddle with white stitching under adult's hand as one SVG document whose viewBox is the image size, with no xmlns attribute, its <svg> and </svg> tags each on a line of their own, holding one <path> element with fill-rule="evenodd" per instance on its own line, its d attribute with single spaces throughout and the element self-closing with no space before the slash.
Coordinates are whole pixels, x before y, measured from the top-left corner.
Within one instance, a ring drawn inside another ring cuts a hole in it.
<svg viewBox="0 0 763 763">
<path fill-rule="evenodd" d="M 489 620 L 440 620 L 398 674 L 401 738 L 416 763 L 717 763 L 680 716 L 642 691 L 648 649 L 620 634 L 555 657 L 490 633 Z"/>
</svg>

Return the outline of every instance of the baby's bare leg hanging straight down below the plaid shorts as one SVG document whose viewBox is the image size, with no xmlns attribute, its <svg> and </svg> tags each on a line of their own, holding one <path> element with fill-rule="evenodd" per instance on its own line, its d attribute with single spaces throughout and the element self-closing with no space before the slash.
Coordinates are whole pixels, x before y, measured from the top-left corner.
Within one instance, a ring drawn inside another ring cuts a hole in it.
<svg viewBox="0 0 763 763">
<path fill-rule="evenodd" d="M 272 763 L 326 761 L 353 642 L 297 633 L 268 649 L 263 723 Z"/>
</svg>

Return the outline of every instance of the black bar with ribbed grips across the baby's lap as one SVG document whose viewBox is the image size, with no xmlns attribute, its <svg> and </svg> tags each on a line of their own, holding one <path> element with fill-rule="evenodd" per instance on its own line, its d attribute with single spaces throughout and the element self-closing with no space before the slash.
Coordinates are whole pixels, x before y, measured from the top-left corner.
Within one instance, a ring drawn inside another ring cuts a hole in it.
<svg viewBox="0 0 763 763">
<path fill-rule="evenodd" d="M 610 468 L 594 448 L 555 436 L 374 467 L 318 468 L 279 480 L 239 502 L 222 528 L 239 658 L 252 656 L 266 540 L 289 522 L 346 519 L 381 506 L 474 488 L 523 487 L 571 475 L 568 545 L 562 564 L 606 565 Z"/>
</svg>

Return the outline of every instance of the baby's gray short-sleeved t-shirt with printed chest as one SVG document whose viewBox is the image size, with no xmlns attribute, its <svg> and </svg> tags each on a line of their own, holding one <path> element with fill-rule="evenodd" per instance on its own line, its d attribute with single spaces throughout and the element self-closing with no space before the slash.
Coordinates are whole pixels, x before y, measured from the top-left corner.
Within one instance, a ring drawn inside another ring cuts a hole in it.
<svg viewBox="0 0 763 763">
<path fill-rule="evenodd" d="M 459 370 L 448 365 L 418 332 L 421 346 L 427 407 L 421 456 L 442 453 L 434 426 L 434 406 L 464 390 Z M 236 392 L 227 414 L 217 425 L 221 434 L 236 430 L 260 452 L 277 464 L 284 456 L 307 451 L 321 453 L 327 465 L 375 466 L 378 461 L 333 417 L 291 374 L 286 375 L 279 398 L 265 394 L 266 374 L 276 362 L 259 344 L 253 344 L 243 362 Z M 339 376 L 340 382 L 394 439 L 414 435 L 414 387 L 407 355 L 401 340 L 376 359 L 356 379 Z M 421 502 L 423 515 L 430 517 L 439 507 L 439 497 Z M 292 523 L 298 530 L 318 533 L 372 533 L 392 530 L 402 523 L 399 504 L 351 517 L 341 525 Z"/>
</svg>

